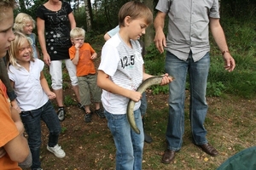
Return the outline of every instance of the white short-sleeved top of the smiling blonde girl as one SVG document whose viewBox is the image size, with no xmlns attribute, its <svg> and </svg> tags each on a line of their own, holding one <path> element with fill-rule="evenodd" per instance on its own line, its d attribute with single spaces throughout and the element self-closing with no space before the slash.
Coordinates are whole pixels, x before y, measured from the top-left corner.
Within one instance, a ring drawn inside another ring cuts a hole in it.
<svg viewBox="0 0 256 170">
<path fill-rule="evenodd" d="M 40 73 L 44 62 L 40 59 L 30 61 L 29 71 L 22 66 L 9 65 L 9 79 L 15 82 L 15 94 L 21 111 L 32 111 L 42 107 L 49 100 L 40 83 Z"/>
</svg>

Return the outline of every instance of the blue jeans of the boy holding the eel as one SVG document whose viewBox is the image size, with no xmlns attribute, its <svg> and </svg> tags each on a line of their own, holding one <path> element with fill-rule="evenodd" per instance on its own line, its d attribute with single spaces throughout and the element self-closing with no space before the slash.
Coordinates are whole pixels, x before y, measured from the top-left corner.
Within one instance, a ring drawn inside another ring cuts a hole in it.
<svg viewBox="0 0 256 170">
<path fill-rule="evenodd" d="M 116 170 L 142 169 L 144 133 L 141 111 L 134 111 L 140 134 L 131 129 L 126 114 L 114 115 L 105 111 L 105 116 L 116 147 Z"/>
</svg>

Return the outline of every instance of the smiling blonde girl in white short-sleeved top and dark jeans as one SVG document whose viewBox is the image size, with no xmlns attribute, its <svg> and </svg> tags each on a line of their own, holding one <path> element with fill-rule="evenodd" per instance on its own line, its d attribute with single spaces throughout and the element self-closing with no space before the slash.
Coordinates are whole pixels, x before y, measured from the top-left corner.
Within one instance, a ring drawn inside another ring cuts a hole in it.
<svg viewBox="0 0 256 170">
<path fill-rule="evenodd" d="M 41 119 L 49 128 L 47 150 L 62 158 L 66 156 L 58 144 L 61 124 L 49 99 L 55 94 L 50 91 L 44 77 L 44 62 L 32 57 L 32 46 L 26 36 L 15 32 L 15 40 L 11 42 L 8 73 L 14 86 L 20 106 L 20 117 L 28 134 L 28 144 L 32 152 L 32 169 L 42 169 L 40 163 Z"/>
</svg>

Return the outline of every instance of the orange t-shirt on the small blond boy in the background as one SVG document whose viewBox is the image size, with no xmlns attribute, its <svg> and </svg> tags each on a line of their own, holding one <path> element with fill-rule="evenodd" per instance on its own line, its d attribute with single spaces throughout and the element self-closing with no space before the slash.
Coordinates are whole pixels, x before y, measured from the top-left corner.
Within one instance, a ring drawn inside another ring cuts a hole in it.
<svg viewBox="0 0 256 170">
<path fill-rule="evenodd" d="M 77 65 L 77 77 L 83 77 L 89 74 L 96 74 L 95 65 L 93 60 L 90 59 L 95 50 L 91 48 L 89 43 L 84 43 L 79 48 L 79 63 Z M 72 46 L 69 48 L 69 57 L 73 59 L 76 54 L 76 48 Z"/>
</svg>

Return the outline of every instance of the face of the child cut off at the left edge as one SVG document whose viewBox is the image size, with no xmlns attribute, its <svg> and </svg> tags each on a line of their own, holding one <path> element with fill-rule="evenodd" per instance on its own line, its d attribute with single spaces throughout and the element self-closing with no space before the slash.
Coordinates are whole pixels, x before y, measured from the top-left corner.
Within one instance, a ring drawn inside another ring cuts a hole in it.
<svg viewBox="0 0 256 170">
<path fill-rule="evenodd" d="M 13 8 L 5 8 L 4 13 L 1 12 L 0 16 L 0 57 L 4 57 L 9 49 L 10 42 L 15 39 L 12 30 L 14 24 Z"/>
</svg>

